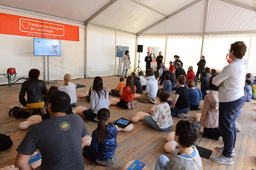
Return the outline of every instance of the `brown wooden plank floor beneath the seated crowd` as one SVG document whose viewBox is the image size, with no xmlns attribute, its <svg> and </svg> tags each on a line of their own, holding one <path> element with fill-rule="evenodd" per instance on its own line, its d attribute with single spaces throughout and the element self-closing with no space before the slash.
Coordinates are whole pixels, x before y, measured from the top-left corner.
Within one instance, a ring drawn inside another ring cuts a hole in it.
<svg viewBox="0 0 256 170">
<path fill-rule="evenodd" d="M 83 84 L 87 87 L 77 88 L 76 94 L 89 91 L 90 86 L 93 84 L 93 78 L 91 79 L 77 79 L 73 80 L 74 83 Z M 103 77 L 103 86 L 105 88 L 115 88 L 119 82 L 119 78 L 116 76 Z M 55 86 L 62 85 L 63 81 L 59 81 Z M 18 124 L 25 121 L 24 118 L 15 119 L 8 115 L 9 106 L 13 104 L 19 104 L 19 91 L 21 84 L 13 84 L 12 87 L 0 86 L 0 133 L 5 135 L 10 135 L 13 141 L 13 146 L 7 151 L 0 152 L 0 167 L 6 165 L 11 165 L 15 162 L 15 157 L 17 152 L 16 148 L 19 146 L 20 142 L 24 138 L 27 130 L 20 130 Z M 47 85 L 48 89 L 50 85 Z M 171 96 L 173 98 L 174 95 Z M 113 96 L 109 96 L 112 98 Z M 210 159 L 202 158 L 203 169 L 255 169 L 256 164 L 256 100 L 252 102 L 245 103 L 242 108 L 242 113 L 237 121 L 241 124 L 242 131 L 237 133 L 237 142 L 235 147 L 236 156 L 233 157 L 233 165 L 220 165 L 215 163 Z M 142 102 L 136 102 L 135 108 L 132 110 L 125 110 L 118 108 L 116 106 L 110 106 L 111 122 L 114 122 L 118 118 L 124 117 L 131 119 L 136 112 L 143 111 L 148 112 L 148 109 L 153 106 L 153 104 L 146 104 Z M 85 99 L 79 99 L 76 106 L 84 106 L 89 108 L 90 103 Z M 200 108 L 203 106 L 203 101 L 200 104 Z M 45 111 L 45 107 L 44 107 Z M 200 111 L 189 111 L 191 114 L 190 120 L 195 120 L 193 115 Z M 166 153 L 163 149 L 165 145 L 166 136 L 170 132 L 175 131 L 176 123 L 182 118 L 173 117 L 173 127 L 170 131 L 160 132 L 154 130 L 151 127 L 143 125 L 141 122 L 133 123 L 134 129 L 130 132 L 118 132 L 116 148 L 116 154 L 118 162 L 112 167 L 101 166 L 97 163 L 91 163 L 84 158 L 85 169 L 106 169 L 106 170 L 117 170 L 120 169 L 128 161 L 138 159 L 144 163 L 149 169 L 154 169 L 155 160 L 161 154 L 166 155 L 168 158 L 174 157 L 178 152 L 178 148 L 172 153 Z M 84 120 L 86 124 L 88 133 L 92 133 L 96 129 L 97 123 L 91 122 L 89 120 Z M 219 141 L 214 141 L 211 139 L 202 137 L 202 129 L 200 131 L 200 137 L 196 142 L 199 146 L 205 147 L 207 149 L 213 150 L 212 156 L 221 154 L 215 149 L 216 146 L 222 146 L 222 138 Z"/>
</svg>

